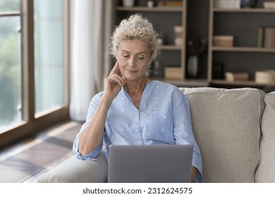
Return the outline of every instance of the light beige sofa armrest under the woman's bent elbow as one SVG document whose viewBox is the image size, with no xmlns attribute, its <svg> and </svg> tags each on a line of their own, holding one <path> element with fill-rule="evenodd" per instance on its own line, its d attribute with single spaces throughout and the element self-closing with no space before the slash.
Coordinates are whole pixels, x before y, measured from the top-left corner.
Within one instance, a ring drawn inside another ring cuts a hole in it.
<svg viewBox="0 0 275 197">
<path fill-rule="evenodd" d="M 48 172 L 39 175 L 38 183 L 99 183 L 106 182 L 108 164 L 105 151 L 97 160 L 80 160 L 72 156 Z"/>
</svg>

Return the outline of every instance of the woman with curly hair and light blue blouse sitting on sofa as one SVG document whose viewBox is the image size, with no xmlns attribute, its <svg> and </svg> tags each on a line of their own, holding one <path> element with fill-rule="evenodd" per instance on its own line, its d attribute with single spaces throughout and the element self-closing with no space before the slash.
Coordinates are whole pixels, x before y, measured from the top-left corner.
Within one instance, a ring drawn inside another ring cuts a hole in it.
<svg viewBox="0 0 275 197">
<path fill-rule="evenodd" d="M 94 160 L 106 144 L 193 144 L 191 182 L 202 179 L 202 158 L 195 141 L 189 103 L 175 86 L 147 78 L 157 57 L 152 23 L 131 15 L 116 27 L 111 53 L 116 64 L 104 91 L 90 103 L 87 120 L 76 136 L 73 153 Z"/>
</svg>

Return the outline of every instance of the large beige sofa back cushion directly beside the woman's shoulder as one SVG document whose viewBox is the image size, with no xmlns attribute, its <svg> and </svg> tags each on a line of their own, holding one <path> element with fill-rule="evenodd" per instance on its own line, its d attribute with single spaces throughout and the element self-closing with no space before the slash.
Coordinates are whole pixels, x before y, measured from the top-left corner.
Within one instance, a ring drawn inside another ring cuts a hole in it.
<svg viewBox="0 0 275 197">
<path fill-rule="evenodd" d="M 264 92 L 181 88 L 190 101 L 203 182 L 255 182 Z"/>
</svg>

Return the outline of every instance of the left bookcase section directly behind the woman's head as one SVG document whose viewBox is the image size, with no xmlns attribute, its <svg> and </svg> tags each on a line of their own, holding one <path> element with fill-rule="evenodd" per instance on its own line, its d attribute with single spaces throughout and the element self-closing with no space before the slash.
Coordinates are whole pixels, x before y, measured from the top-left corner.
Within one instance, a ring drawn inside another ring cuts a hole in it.
<svg viewBox="0 0 275 197">
<path fill-rule="evenodd" d="M 117 25 L 123 18 L 127 18 L 134 13 L 141 13 L 148 18 L 154 25 L 154 30 L 163 35 L 164 44 L 160 46 L 160 56 L 158 58 L 161 68 L 161 75 L 152 75 L 152 80 L 161 80 L 175 84 L 176 86 L 200 87 L 207 86 L 207 80 L 188 79 L 185 73 L 186 67 L 186 18 L 187 18 L 187 0 L 182 0 L 182 6 L 158 6 L 157 1 L 152 8 L 147 7 L 147 1 L 136 0 L 135 6 L 125 7 L 121 1 L 116 1 L 115 13 Z M 183 42 L 181 45 L 175 44 L 173 27 L 180 25 L 183 27 Z M 181 79 L 167 79 L 164 77 L 164 70 L 167 67 L 176 67 L 181 69 Z"/>
</svg>

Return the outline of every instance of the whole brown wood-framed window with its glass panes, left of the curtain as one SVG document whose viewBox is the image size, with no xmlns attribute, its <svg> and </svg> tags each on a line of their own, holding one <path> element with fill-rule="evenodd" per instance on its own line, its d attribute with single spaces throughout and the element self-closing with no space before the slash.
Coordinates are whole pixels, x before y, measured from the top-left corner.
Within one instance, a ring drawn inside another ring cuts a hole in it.
<svg viewBox="0 0 275 197">
<path fill-rule="evenodd" d="M 0 146 L 68 119 L 69 0 L 0 0 Z"/>
</svg>

